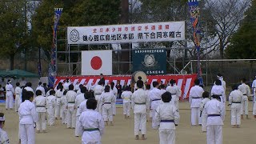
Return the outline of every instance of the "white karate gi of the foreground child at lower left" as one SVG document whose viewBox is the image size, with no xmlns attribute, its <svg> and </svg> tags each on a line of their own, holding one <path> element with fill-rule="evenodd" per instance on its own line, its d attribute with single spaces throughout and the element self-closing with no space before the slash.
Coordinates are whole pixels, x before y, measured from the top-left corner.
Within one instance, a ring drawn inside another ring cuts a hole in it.
<svg viewBox="0 0 256 144">
<path fill-rule="evenodd" d="M 21 144 L 34 144 L 34 123 L 38 122 L 38 114 L 34 103 L 29 100 L 22 102 L 18 109 L 18 115 Z"/>
</svg>

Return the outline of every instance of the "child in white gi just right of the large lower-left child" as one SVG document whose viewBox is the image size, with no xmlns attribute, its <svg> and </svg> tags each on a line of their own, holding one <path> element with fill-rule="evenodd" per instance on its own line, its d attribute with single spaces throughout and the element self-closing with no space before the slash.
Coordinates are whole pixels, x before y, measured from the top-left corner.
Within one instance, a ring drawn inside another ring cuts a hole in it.
<svg viewBox="0 0 256 144">
<path fill-rule="evenodd" d="M 46 133 L 46 97 L 42 96 L 42 91 L 35 92 L 37 97 L 34 98 L 34 104 L 38 112 L 37 132 Z"/>
</svg>

